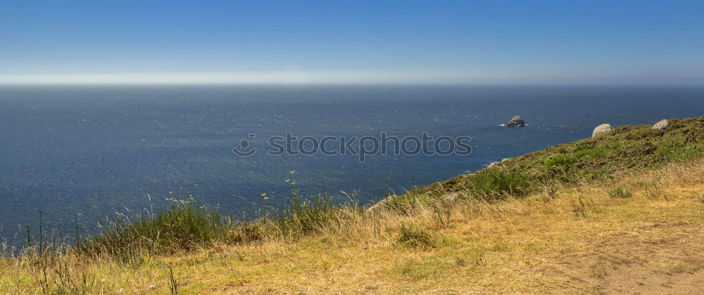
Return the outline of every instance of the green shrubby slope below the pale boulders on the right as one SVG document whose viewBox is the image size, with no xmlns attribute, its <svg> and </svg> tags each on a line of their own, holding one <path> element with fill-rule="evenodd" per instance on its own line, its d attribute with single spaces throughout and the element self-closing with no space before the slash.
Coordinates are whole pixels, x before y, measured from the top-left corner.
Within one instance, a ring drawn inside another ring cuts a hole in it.
<svg viewBox="0 0 704 295">
<path fill-rule="evenodd" d="M 669 121 L 666 130 L 624 125 L 594 138 L 527 153 L 476 173 L 413 189 L 389 200 L 386 206 L 405 210 L 417 201 L 436 201 L 453 192 L 478 199 L 522 196 L 548 183 L 614 177 L 659 168 L 704 152 L 704 116 Z"/>
</svg>

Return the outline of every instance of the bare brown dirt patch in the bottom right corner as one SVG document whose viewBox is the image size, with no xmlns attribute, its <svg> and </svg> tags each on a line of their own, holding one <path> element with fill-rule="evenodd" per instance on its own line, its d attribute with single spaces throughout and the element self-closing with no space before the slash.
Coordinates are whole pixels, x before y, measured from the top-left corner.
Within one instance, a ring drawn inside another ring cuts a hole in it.
<svg viewBox="0 0 704 295">
<path fill-rule="evenodd" d="M 704 293 L 704 230 L 692 222 L 652 222 L 591 245 L 591 253 L 560 259 L 570 282 L 602 294 Z"/>
</svg>

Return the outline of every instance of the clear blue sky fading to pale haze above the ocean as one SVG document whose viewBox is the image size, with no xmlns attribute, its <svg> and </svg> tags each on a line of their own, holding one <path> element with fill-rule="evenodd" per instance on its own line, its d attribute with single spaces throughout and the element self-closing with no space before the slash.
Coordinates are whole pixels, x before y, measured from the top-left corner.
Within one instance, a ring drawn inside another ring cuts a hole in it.
<svg viewBox="0 0 704 295">
<path fill-rule="evenodd" d="M 8 1 L 0 83 L 704 84 L 704 1 Z"/>
</svg>

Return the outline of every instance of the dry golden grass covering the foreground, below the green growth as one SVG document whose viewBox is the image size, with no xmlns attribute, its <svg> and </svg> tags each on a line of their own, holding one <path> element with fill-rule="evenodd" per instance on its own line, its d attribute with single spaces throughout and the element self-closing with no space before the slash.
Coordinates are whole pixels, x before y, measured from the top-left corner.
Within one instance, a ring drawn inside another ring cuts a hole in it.
<svg viewBox="0 0 704 295">
<path fill-rule="evenodd" d="M 449 215 L 345 213 L 346 224 L 299 241 L 218 244 L 141 265 L 69 255 L 42 270 L 39 258 L 4 258 L 0 293 L 169 293 L 169 268 L 182 294 L 704 291 L 701 160 L 522 199 L 462 201 Z M 401 238 L 402 227 L 421 235 Z"/>
</svg>

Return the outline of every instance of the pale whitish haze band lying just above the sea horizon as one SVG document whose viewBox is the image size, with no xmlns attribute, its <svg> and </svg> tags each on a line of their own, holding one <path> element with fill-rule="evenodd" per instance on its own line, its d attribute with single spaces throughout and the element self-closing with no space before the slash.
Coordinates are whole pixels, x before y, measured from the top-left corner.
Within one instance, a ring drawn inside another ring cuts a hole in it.
<svg viewBox="0 0 704 295">
<path fill-rule="evenodd" d="M 653 75 L 503 75 L 465 71 L 251 71 L 0 75 L 1 85 L 336 85 L 336 84 L 677 84 L 704 85 L 704 77 Z M 626 74 L 626 73 L 621 73 Z"/>
</svg>

